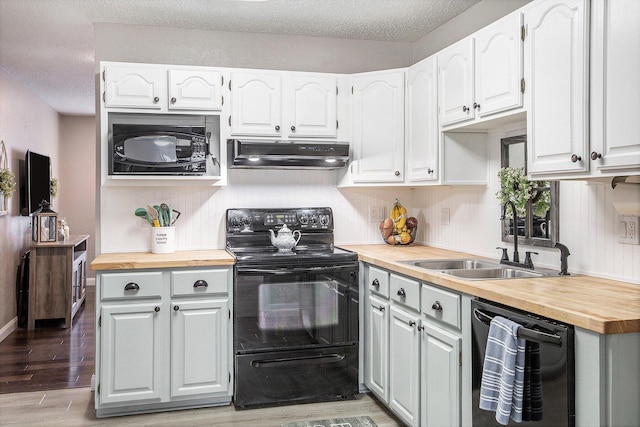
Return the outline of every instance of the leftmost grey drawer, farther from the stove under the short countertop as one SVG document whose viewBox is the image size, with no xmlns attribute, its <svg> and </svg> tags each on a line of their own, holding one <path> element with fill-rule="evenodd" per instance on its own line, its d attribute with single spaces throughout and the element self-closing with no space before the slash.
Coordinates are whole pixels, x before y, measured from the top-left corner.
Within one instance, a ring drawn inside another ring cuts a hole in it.
<svg viewBox="0 0 640 427">
<path fill-rule="evenodd" d="M 101 275 L 101 298 L 135 299 L 162 296 L 162 272 L 105 273 Z"/>
</svg>

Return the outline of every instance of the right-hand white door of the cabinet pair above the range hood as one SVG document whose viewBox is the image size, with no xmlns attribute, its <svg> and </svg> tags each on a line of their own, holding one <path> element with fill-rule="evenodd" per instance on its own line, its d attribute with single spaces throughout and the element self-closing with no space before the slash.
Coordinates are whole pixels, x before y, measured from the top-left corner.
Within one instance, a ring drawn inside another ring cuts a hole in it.
<svg viewBox="0 0 640 427">
<path fill-rule="evenodd" d="M 284 104 L 285 132 L 293 137 L 337 135 L 337 81 L 335 77 L 288 77 Z"/>
</svg>

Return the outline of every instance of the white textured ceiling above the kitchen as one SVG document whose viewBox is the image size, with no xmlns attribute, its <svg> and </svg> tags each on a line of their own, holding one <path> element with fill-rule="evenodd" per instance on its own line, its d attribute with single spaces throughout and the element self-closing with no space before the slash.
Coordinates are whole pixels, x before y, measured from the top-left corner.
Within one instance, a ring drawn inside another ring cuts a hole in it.
<svg viewBox="0 0 640 427">
<path fill-rule="evenodd" d="M 478 1 L 0 0 L 0 67 L 56 111 L 93 114 L 94 23 L 413 42 Z"/>
</svg>

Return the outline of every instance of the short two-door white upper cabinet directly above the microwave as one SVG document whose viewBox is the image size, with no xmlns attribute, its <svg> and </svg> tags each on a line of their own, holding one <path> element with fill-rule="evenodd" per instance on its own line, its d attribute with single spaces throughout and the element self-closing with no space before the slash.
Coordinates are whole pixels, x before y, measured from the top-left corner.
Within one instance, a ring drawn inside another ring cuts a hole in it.
<svg viewBox="0 0 640 427">
<path fill-rule="evenodd" d="M 103 70 L 103 79 L 106 108 L 159 111 L 222 108 L 223 74 L 209 67 L 109 64 Z"/>
</svg>

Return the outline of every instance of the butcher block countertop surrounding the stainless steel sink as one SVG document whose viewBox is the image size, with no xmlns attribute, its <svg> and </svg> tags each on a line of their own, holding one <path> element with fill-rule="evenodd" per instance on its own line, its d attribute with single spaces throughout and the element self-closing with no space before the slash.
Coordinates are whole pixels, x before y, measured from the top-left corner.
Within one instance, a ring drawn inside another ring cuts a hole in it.
<svg viewBox="0 0 640 427">
<path fill-rule="evenodd" d="M 470 281 L 398 263 L 403 260 L 479 258 L 462 252 L 420 245 L 340 247 L 357 252 L 359 259 L 366 263 L 601 334 L 640 332 L 639 284 L 584 275 Z"/>
</svg>

